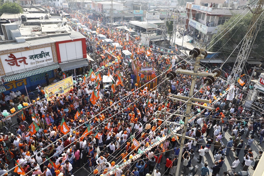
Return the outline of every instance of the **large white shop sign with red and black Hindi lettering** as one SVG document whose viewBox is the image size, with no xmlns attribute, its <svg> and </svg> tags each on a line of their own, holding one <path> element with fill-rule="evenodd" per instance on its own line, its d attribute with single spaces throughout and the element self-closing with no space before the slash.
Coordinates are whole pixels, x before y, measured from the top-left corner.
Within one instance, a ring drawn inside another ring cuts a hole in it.
<svg viewBox="0 0 264 176">
<path fill-rule="evenodd" d="M 0 58 L 6 73 L 54 62 L 51 47 L 3 54 Z"/>
</svg>

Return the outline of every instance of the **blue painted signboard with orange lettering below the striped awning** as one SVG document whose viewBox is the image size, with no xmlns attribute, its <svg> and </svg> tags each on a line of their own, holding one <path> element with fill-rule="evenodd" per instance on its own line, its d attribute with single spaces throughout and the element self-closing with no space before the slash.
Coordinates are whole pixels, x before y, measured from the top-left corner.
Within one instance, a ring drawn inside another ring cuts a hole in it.
<svg viewBox="0 0 264 176">
<path fill-rule="evenodd" d="M 38 75 L 26 77 L 23 79 L 5 82 L 4 87 L 6 88 L 6 91 L 4 92 L 4 94 L 9 95 L 10 90 L 13 92 L 16 92 L 16 90 L 19 90 L 22 94 L 26 95 L 26 89 L 25 89 L 25 86 L 26 86 L 27 91 L 31 90 L 36 95 L 38 94 L 37 89 L 36 89 L 38 84 L 40 84 L 40 86 L 42 86 L 43 84 L 46 84 L 46 80 L 45 80 L 46 73 L 48 73 L 48 77 L 50 79 L 54 77 L 54 71 L 51 70 L 48 72 L 40 73 Z"/>
</svg>

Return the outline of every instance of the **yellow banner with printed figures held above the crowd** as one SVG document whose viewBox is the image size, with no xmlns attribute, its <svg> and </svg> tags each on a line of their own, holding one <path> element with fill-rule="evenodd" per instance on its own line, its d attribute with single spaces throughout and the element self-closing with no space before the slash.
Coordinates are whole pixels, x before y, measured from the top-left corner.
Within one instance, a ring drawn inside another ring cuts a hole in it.
<svg viewBox="0 0 264 176">
<path fill-rule="evenodd" d="M 45 87 L 44 92 L 46 95 L 48 95 L 48 97 L 46 96 L 47 100 L 52 100 L 53 97 L 56 97 L 56 94 L 59 94 L 59 97 L 61 95 L 69 94 L 70 90 L 73 88 L 72 86 L 73 80 L 72 76 L 70 76 L 50 86 Z"/>
</svg>

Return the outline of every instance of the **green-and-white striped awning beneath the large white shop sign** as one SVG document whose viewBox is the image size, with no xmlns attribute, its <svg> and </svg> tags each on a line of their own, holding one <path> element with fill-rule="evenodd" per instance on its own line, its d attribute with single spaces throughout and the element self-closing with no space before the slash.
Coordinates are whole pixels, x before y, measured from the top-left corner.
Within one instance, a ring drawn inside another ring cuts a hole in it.
<svg viewBox="0 0 264 176">
<path fill-rule="evenodd" d="M 49 65 L 49 66 L 45 66 L 45 67 L 41 67 L 41 68 L 37 68 L 37 69 L 34 69 L 34 70 L 22 72 L 22 73 L 17 73 L 17 74 L 14 74 L 14 75 L 3 76 L 2 79 L 4 79 L 5 82 L 9 82 L 9 81 L 22 79 L 22 78 L 33 76 L 33 75 L 38 75 L 40 73 L 48 72 L 50 70 L 54 70 L 54 69 L 57 69 L 57 68 L 59 68 L 59 64 L 58 63 L 53 64 L 53 65 Z"/>
</svg>

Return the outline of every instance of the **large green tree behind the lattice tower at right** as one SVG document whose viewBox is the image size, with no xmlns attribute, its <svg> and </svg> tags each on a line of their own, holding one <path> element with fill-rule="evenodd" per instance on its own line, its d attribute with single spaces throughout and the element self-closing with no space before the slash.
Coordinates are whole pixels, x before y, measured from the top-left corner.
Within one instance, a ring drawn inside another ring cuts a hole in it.
<svg viewBox="0 0 264 176">
<path fill-rule="evenodd" d="M 252 18 L 252 13 L 247 13 L 243 18 L 242 16 L 243 14 L 233 14 L 228 21 L 218 26 L 217 33 L 214 34 L 212 37 L 212 41 L 209 46 L 210 48 L 209 51 L 222 52 L 223 55 L 228 57 L 229 55 L 231 55 L 233 50 L 235 50 L 232 53 L 231 57 L 237 57 L 237 54 L 242 44 L 241 40 L 243 40 L 244 36 L 248 33 L 249 30 L 248 26 Z M 240 18 L 242 19 L 236 24 L 236 22 Z M 260 20 L 263 19 L 263 16 L 260 17 L 259 19 Z M 258 23 L 260 22 L 260 20 L 258 21 Z M 262 57 L 262 55 L 264 54 L 263 52 L 264 28 L 259 25 L 257 29 L 258 28 L 260 30 L 252 46 L 251 56 Z"/>
</svg>

